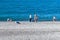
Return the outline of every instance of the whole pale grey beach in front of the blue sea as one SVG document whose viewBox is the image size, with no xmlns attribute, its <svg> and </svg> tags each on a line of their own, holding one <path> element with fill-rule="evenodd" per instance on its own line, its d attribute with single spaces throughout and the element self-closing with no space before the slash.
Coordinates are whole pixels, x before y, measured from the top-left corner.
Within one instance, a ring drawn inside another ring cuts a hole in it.
<svg viewBox="0 0 60 40">
<path fill-rule="evenodd" d="M 0 40 L 59 40 L 60 22 L 0 22 Z"/>
</svg>

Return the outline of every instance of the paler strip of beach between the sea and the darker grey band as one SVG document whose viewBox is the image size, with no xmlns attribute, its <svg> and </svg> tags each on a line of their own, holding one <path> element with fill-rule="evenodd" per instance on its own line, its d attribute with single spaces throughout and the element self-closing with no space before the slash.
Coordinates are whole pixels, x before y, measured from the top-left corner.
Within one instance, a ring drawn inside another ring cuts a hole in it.
<svg viewBox="0 0 60 40">
<path fill-rule="evenodd" d="M 22 21 L 21 24 L 13 22 L 0 22 L 2 30 L 40 30 L 40 31 L 60 31 L 60 21 L 52 22 L 28 22 Z"/>
</svg>

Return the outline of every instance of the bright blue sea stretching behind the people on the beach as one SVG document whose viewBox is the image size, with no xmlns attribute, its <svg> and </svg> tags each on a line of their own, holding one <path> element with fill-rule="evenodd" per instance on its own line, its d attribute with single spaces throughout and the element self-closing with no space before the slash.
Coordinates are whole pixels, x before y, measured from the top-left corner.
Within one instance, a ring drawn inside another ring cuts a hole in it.
<svg viewBox="0 0 60 40">
<path fill-rule="evenodd" d="M 35 13 L 39 21 L 60 21 L 60 0 L 0 0 L 0 21 L 27 21 Z"/>
</svg>

